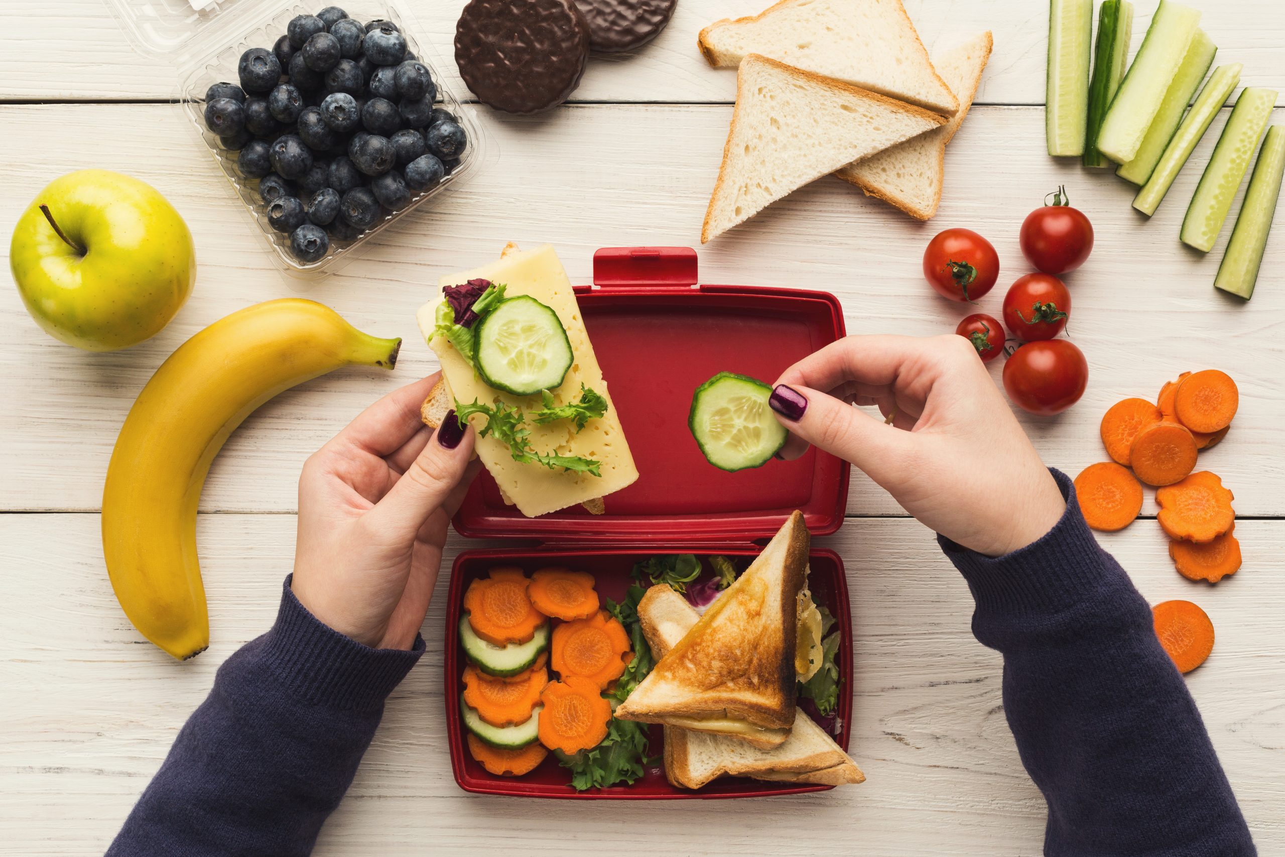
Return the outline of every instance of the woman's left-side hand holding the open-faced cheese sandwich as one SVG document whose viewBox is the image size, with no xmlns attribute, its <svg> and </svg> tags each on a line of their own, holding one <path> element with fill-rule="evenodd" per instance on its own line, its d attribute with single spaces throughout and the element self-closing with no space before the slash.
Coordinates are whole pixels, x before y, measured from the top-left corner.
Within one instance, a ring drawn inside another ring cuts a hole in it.
<svg viewBox="0 0 1285 857">
<path fill-rule="evenodd" d="M 299 475 L 290 588 L 319 621 L 374 649 L 415 642 L 447 523 L 481 468 L 455 411 L 436 433 L 419 419 L 437 379 L 368 407 Z"/>
</svg>

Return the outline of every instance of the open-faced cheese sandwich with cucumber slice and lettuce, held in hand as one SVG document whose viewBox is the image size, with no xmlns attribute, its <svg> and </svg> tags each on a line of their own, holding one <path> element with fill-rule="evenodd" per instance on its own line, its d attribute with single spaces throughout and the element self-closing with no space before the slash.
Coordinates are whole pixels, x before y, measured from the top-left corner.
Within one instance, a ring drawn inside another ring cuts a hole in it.
<svg viewBox="0 0 1285 857">
<path fill-rule="evenodd" d="M 468 419 L 478 457 L 522 514 L 601 513 L 601 497 L 639 477 L 619 415 L 554 248 L 510 248 L 443 276 L 416 314 L 443 379 L 423 416 L 439 421 L 448 403 Z"/>
</svg>

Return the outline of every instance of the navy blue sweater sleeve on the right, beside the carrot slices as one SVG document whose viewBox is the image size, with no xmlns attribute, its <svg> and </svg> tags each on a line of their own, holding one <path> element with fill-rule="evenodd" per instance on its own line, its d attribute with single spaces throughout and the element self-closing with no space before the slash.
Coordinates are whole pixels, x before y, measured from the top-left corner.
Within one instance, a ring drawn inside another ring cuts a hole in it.
<svg viewBox="0 0 1285 857">
<path fill-rule="evenodd" d="M 973 633 L 1004 654 L 1004 711 L 1049 803 L 1050 857 L 1241 857 L 1249 829 L 1151 610 L 1094 538 L 1070 479 L 1046 536 L 991 559 L 938 536 Z"/>
</svg>

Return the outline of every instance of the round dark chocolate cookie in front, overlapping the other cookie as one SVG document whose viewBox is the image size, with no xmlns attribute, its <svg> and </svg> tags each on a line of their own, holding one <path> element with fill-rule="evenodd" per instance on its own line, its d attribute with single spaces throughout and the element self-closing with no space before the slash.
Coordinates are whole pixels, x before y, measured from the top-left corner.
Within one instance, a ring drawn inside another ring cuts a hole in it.
<svg viewBox="0 0 1285 857">
<path fill-rule="evenodd" d="M 455 64 L 483 104 L 538 113 L 567 100 L 589 60 L 574 0 L 470 0 L 455 24 Z"/>
</svg>

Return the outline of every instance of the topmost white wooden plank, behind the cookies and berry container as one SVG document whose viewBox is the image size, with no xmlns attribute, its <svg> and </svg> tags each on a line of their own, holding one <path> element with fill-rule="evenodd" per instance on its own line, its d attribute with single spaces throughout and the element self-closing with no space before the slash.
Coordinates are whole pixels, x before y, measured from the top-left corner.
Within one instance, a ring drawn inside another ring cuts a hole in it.
<svg viewBox="0 0 1285 857">
<path fill-rule="evenodd" d="M 379 0 L 344 4 L 356 14 Z M 434 46 L 437 68 L 459 98 L 469 96 L 455 72 L 455 22 L 465 0 L 396 0 L 419 22 Z M 184 0 L 150 0 L 182 8 Z M 134 5 L 143 6 L 141 1 Z M 235 0 L 218 4 L 238 14 Z M 239 4 L 242 12 L 249 5 Z M 323 4 L 324 5 L 324 4 Z M 576 102 L 731 102 L 735 73 L 712 69 L 696 50 L 696 33 L 720 18 L 756 14 L 768 0 L 682 0 L 669 26 L 642 49 L 595 57 Z M 1141 5 L 1133 50 L 1142 42 L 1154 4 Z M 308 4 L 302 8 L 312 9 Z M 317 6 L 320 8 L 320 6 Z M 1049 6 L 1041 0 L 906 0 L 930 49 L 983 30 L 995 33 L 995 54 L 978 90 L 978 104 L 1042 104 Z M 368 17 L 377 17 L 371 12 Z M 254 14 L 245 18 L 254 18 Z M 382 15 L 379 15 L 382 17 Z M 1246 86 L 1281 87 L 1285 67 L 1285 6 L 1277 0 L 1236 0 L 1204 6 L 1201 26 L 1218 45 L 1217 62 L 1245 64 Z M 249 32 L 247 26 L 240 32 Z M 265 45 L 270 46 L 270 45 Z M 208 50 L 206 53 L 209 53 Z M 136 53 L 103 0 L 6 0 L 0 5 L 0 99 L 167 99 L 175 93 L 176 58 Z M 1279 102 L 1285 104 L 1285 100 Z"/>
</svg>

